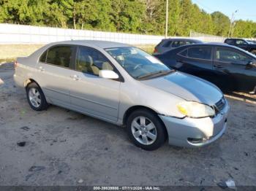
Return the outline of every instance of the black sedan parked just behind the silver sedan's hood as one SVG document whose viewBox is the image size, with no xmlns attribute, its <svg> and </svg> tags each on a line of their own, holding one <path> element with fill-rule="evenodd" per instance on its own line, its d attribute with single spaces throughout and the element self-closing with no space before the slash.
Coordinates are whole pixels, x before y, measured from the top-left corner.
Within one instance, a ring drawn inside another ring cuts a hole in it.
<svg viewBox="0 0 256 191">
<path fill-rule="evenodd" d="M 256 56 L 238 47 L 192 44 L 155 56 L 167 66 L 213 82 L 222 90 L 256 91 Z"/>
</svg>

